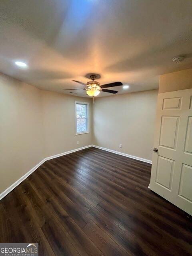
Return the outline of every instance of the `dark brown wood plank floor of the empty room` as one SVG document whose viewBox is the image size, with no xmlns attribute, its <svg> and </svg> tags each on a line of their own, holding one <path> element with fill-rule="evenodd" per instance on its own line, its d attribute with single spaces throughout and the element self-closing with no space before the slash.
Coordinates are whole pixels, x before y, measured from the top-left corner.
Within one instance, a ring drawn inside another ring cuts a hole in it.
<svg viewBox="0 0 192 256">
<path fill-rule="evenodd" d="M 88 148 L 42 164 L 0 201 L 0 242 L 39 255 L 192 255 L 192 224 L 148 189 L 151 165 Z"/>
</svg>

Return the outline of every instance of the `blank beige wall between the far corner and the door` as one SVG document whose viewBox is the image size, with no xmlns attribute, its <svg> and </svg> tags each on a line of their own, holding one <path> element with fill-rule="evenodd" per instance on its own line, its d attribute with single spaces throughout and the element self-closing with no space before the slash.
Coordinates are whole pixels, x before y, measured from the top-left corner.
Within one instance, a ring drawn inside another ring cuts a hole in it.
<svg viewBox="0 0 192 256">
<path fill-rule="evenodd" d="M 94 144 L 151 160 L 157 94 L 149 90 L 96 98 Z"/>
</svg>

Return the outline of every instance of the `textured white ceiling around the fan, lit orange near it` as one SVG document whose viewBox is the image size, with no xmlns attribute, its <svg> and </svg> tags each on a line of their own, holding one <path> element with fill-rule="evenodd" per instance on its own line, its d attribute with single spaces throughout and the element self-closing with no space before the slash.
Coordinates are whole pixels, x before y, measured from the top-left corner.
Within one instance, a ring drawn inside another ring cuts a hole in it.
<svg viewBox="0 0 192 256">
<path fill-rule="evenodd" d="M 187 58 L 173 64 L 178 54 Z M 16 60 L 28 68 L 16 67 Z M 191 0 L 0 1 L 0 71 L 42 90 L 82 88 L 72 80 L 86 83 L 88 73 L 100 74 L 101 84 L 130 85 L 113 88 L 118 94 L 150 90 L 160 74 L 187 68 Z"/>
</svg>

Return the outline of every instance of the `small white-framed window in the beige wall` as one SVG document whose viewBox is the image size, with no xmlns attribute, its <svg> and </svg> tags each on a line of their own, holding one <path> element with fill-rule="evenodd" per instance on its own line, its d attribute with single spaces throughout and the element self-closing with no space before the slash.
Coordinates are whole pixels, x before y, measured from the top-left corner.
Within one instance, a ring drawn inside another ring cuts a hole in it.
<svg viewBox="0 0 192 256">
<path fill-rule="evenodd" d="M 89 132 L 89 103 L 75 102 L 76 135 Z"/>
</svg>

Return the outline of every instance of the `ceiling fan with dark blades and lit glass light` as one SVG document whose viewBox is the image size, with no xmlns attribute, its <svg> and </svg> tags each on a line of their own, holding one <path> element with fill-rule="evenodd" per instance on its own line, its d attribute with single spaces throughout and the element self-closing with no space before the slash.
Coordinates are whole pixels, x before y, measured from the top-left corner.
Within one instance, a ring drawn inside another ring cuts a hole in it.
<svg viewBox="0 0 192 256">
<path fill-rule="evenodd" d="M 79 84 L 82 84 L 82 85 L 86 86 L 86 88 L 63 89 L 63 90 L 64 91 L 65 90 L 86 90 L 86 93 L 89 96 L 93 96 L 94 97 L 94 96 L 98 96 L 101 91 L 102 92 L 109 92 L 109 93 L 116 94 L 118 91 L 108 90 L 108 89 L 105 89 L 105 88 L 123 85 L 122 82 L 114 82 L 114 83 L 110 83 L 110 84 L 100 85 L 99 82 L 95 81 L 95 79 L 96 79 L 95 75 L 91 75 L 90 78 L 91 78 L 91 81 L 87 82 L 86 84 L 84 84 L 82 82 L 79 82 L 79 81 L 76 81 L 76 80 L 73 80 L 74 82 L 77 82 Z"/>
</svg>

